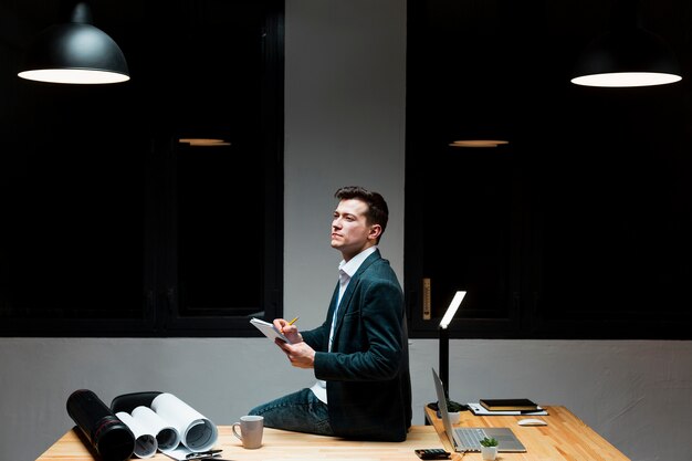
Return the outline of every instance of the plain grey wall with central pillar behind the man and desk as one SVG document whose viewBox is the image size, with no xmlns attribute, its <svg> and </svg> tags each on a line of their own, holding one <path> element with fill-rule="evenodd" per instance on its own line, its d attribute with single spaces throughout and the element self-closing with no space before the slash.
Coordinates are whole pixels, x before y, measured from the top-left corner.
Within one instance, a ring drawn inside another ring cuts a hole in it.
<svg viewBox="0 0 692 461">
<path fill-rule="evenodd" d="M 381 250 L 403 275 L 405 0 L 286 1 L 285 311 L 322 321 L 339 254 L 333 192 L 381 191 L 391 222 Z M 415 423 L 433 401 L 437 342 L 410 342 Z M 636 461 L 692 452 L 692 342 L 452 340 L 450 394 L 565 405 Z M 80 388 L 177 395 L 217 425 L 300 386 L 264 338 L 0 338 L 0 460 L 34 460 L 73 421 Z M 650 434 L 653 430 L 653 434 Z"/>
</svg>

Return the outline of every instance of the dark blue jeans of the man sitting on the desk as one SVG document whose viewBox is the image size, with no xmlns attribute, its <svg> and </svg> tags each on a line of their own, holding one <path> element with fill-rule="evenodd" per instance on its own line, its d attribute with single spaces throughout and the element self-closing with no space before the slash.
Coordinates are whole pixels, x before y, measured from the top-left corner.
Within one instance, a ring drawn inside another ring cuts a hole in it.
<svg viewBox="0 0 692 461">
<path fill-rule="evenodd" d="M 334 436 L 326 404 L 305 388 L 260 405 L 248 415 L 264 417 L 264 427 Z"/>
</svg>

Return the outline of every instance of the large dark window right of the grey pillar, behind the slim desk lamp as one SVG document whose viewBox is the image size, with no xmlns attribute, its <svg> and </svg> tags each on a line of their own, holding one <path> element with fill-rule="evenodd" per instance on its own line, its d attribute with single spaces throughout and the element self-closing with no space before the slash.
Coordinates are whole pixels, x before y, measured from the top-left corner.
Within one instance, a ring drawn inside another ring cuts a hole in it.
<svg viewBox="0 0 692 461">
<path fill-rule="evenodd" d="M 570 84 L 557 3 L 408 2 L 411 336 L 465 290 L 453 337 L 692 338 L 689 84 Z M 510 145 L 449 146 L 479 122 Z"/>
</svg>

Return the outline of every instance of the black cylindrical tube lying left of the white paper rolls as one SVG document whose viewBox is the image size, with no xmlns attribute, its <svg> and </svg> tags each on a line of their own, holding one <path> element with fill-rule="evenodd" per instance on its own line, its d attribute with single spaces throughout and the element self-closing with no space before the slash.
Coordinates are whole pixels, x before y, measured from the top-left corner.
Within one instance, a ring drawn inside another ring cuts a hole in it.
<svg viewBox="0 0 692 461">
<path fill-rule="evenodd" d="M 135 451 L 133 431 L 91 390 L 72 392 L 67 415 L 104 461 L 125 461 Z"/>
</svg>

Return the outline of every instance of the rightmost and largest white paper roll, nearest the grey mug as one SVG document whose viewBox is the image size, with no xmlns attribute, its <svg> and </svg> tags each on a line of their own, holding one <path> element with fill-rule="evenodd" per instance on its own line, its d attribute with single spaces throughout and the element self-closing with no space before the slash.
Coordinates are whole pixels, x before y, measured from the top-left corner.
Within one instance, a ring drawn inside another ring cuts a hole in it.
<svg viewBox="0 0 692 461">
<path fill-rule="evenodd" d="M 217 426 L 172 394 L 159 394 L 151 409 L 181 434 L 180 441 L 192 451 L 211 449 L 219 437 Z"/>
</svg>

